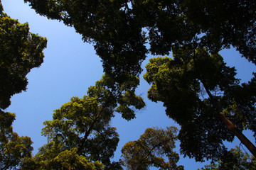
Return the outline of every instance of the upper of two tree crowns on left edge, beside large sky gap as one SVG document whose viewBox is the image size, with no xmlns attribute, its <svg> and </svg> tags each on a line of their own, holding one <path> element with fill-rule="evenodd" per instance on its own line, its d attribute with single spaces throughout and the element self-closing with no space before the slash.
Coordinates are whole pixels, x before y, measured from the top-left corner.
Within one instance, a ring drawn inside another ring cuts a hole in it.
<svg viewBox="0 0 256 170">
<path fill-rule="evenodd" d="M 0 41 L 0 108 L 5 109 L 11 96 L 26 90 L 26 74 L 42 64 L 47 40 L 3 13 L 0 1 Z"/>
</svg>

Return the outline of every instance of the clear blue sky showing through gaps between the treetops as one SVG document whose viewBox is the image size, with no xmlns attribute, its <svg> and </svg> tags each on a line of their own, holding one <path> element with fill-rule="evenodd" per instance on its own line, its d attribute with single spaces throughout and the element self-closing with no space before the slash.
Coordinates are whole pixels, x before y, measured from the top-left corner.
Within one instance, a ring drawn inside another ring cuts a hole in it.
<svg viewBox="0 0 256 170">
<path fill-rule="evenodd" d="M 48 39 L 48 47 L 44 50 L 45 59 L 41 67 L 32 69 L 28 74 L 28 89 L 26 92 L 16 94 L 11 98 L 11 106 L 6 109 L 16 113 L 14 131 L 18 135 L 31 137 L 33 141 L 33 154 L 38 147 L 46 144 L 46 137 L 41 136 L 41 129 L 45 120 L 52 120 L 53 110 L 60 108 L 70 101 L 73 96 L 82 98 L 89 86 L 95 85 L 95 81 L 102 77 L 102 63 L 95 55 L 92 45 L 84 43 L 81 35 L 75 33 L 74 28 L 68 28 L 58 21 L 50 21 L 46 17 L 39 16 L 23 0 L 1 0 L 4 12 L 11 18 L 18 19 L 20 23 L 28 22 L 31 33 L 38 33 Z M 220 52 L 230 66 L 238 69 L 238 77 L 242 81 L 250 80 L 255 67 L 245 59 L 241 59 L 235 50 Z M 148 62 L 146 58 L 144 65 Z M 116 115 L 112 120 L 112 126 L 119 133 L 119 146 L 114 159 L 118 160 L 122 146 L 131 140 L 139 139 L 146 128 L 176 125 L 165 114 L 162 103 L 152 103 L 146 98 L 149 84 L 141 77 L 141 85 L 137 94 L 142 95 L 146 102 L 146 108 L 137 112 L 134 120 L 123 120 Z M 254 142 L 252 134 L 246 132 L 247 137 Z M 255 142 L 254 142 L 255 143 Z M 239 145 L 227 143 L 228 147 Z M 178 152 L 178 142 L 176 143 Z M 197 169 L 204 164 L 196 163 L 194 159 L 183 158 L 180 162 L 185 169 Z"/>
</svg>

